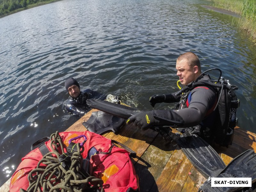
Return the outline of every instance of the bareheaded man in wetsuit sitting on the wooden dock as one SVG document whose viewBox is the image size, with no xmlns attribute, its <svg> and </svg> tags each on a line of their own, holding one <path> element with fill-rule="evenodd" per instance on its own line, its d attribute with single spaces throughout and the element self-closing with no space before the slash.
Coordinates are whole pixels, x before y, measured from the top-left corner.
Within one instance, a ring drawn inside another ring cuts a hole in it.
<svg viewBox="0 0 256 192">
<path fill-rule="evenodd" d="M 208 75 L 200 76 L 201 65 L 196 54 L 187 52 L 180 55 L 176 62 L 177 76 L 182 85 L 188 85 L 197 81 L 210 81 Z M 199 77 L 199 78 L 198 78 Z M 142 130 L 152 126 L 168 125 L 182 132 L 198 134 L 205 140 L 212 140 L 211 130 L 214 125 L 215 112 L 213 109 L 217 103 L 217 92 L 211 86 L 199 86 L 189 92 L 176 96 L 175 93 L 153 95 L 149 102 L 154 107 L 156 103 L 178 102 L 176 110 L 150 110 L 141 111 L 127 120 L 127 124 L 133 123 Z"/>
</svg>

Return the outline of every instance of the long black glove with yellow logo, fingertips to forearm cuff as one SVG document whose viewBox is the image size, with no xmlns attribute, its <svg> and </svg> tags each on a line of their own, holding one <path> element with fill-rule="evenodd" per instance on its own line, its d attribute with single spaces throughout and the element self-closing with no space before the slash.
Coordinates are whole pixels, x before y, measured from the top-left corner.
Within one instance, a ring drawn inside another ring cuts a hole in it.
<svg viewBox="0 0 256 192">
<path fill-rule="evenodd" d="M 126 124 L 132 122 L 133 126 L 138 126 L 141 130 L 147 130 L 157 125 L 181 126 L 184 124 L 183 118 L 171 110 L 140 111 L 131 116 Z"/>
</svg>

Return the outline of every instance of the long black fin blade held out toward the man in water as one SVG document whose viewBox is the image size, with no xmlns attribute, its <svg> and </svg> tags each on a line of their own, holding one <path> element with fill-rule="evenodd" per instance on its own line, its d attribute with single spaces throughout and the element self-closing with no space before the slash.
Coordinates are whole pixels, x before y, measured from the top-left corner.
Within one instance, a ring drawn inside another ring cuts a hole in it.
<svg viewBox="0 0 256 192">
<path fill-rule="evenodd" d="M 136 113 L 139 112 L 139 110 L 136 110 L 134 108 L 121 105 L 121 104 L 110 103 L 108 101 L 88 99 L 86 100 L 86 103 L 91 108 L 98 109 L 100 111 L 104 111 L 106 113 L 109 113 L 124 119 L 128 119 L 132 115 L 135 115 Z"/>
</svg>

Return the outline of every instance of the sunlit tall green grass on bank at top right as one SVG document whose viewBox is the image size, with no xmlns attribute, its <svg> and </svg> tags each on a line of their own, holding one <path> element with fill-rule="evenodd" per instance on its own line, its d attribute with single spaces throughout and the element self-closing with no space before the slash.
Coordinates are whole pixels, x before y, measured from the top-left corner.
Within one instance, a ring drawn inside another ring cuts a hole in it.
<svg viewBox="0 0 256 192">
<path fill-rule="evenodd" d="M 244 29 L 256 45 L 256 3 L 255 0 L 206 0 L 212 6 L 241 15 L 239 27 Z"/>
</svg>

